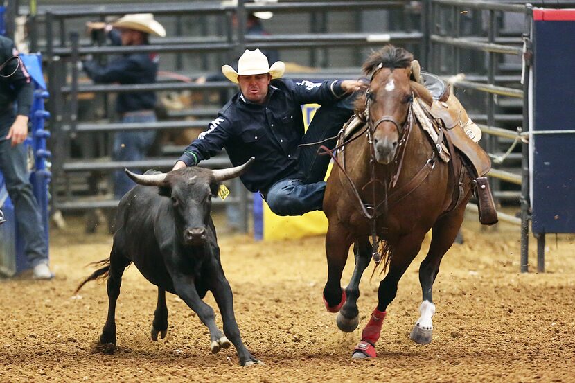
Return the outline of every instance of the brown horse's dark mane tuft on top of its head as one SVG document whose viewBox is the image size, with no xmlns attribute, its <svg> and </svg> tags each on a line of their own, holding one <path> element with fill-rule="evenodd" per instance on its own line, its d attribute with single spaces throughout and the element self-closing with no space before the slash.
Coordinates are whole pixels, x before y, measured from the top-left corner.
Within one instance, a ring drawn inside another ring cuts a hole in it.
<svg viewBox="0 0 575 383">
<path fill-rule="evenodd" d="M 375 74 L 381 68 L 411 68 L 414 55 L 404 48 L 388 44 L 379 51 L 371 53 L 362 66 L 364 75 Z M 355 114 L 363 116 L 365 112 L 365 94 L 355 100 Z M 361 118 L 361 117 L 360 117 Z"/>
</svg>

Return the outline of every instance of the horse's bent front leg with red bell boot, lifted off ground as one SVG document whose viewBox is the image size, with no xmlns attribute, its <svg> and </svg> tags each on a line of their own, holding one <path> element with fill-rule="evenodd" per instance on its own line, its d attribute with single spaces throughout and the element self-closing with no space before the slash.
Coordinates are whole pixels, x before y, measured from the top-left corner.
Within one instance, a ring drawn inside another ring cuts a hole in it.
<svg viewBox="0 0 575 383">
<path fill-rule="evenodd" d="M 342 290 L 341 280 L 352 242 L 349 233 L 341 224 L 330 222 L 326 234 L 328 280 L 324 287 L 324 304 L 329 312 L 338 312 L 346 301 L 346 292 Z"/>
</svg>

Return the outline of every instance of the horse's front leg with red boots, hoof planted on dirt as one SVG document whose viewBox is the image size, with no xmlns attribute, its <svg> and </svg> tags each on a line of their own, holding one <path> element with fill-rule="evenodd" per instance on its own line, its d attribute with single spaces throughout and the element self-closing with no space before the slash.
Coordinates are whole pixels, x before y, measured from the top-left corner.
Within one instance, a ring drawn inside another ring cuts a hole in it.
<svg viewBox="0 0 575 383">
<path fill-rule="evenodd" d="M 375 343 L 380 339 L 387 305 L 395 299 L 399 280 L 421 249 L 425 232 L 403 235 L 393 246 L 389 260 L 389 270 L 378 288 L 378 306 L 371 313 L 369 322 L 362 331 L 362 340 L 353 350 L 354 359 L 376 357 Z"/>
</svg>

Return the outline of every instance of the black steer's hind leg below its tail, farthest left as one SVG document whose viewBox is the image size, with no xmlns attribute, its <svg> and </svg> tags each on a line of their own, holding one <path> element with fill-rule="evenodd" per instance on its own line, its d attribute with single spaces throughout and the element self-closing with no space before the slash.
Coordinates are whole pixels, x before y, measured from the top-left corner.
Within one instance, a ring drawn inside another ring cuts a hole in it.
<svg viewBox="0 0 575 383">
<path fill-rule="evenodd" d="M 121 253 L 118 253 L 112 246 L 108 280 L 106 283 L 108 292 L 108 315 L 104 328 L 102 329 L 102 334 L 100 335 L 100 344 L 116 344 L 116 301 L 120 295 L 122 275 L 127 265 L 130 265 L 130 260 L 121 255 Z"/>
</svg>

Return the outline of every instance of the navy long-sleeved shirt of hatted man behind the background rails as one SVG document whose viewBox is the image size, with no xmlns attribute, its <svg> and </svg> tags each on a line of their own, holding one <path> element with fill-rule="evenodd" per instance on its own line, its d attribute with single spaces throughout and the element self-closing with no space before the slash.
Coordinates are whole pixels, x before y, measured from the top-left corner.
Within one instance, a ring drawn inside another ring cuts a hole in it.
<svg viewBox="0 0 575 383">
<path fill-rule="evenodd" d="M 116 31 L 112 30 L 109 37 L 117 45 L 114 33 Z M 83 62 L 83 68 L 97 84 L 152 84 L 156 82 L 158 60 L 157 53 L 132 53 L 116 57 L 105 66 L 94 60 L 86 61 Z M 155 105 L 156 93 L 153 91 L 118 93 L 116 98 L 116 111 L 120 113 L 154 109 Z"/>
</svg>

